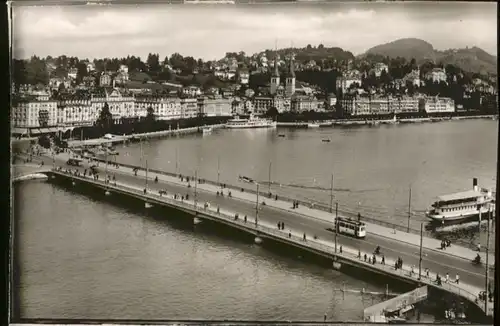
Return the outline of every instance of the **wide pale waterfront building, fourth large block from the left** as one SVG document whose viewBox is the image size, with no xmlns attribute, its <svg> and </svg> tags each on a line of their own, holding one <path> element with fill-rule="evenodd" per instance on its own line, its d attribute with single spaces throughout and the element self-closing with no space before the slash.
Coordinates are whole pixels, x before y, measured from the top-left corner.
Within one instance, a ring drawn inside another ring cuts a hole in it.
<svg viewBox="0 0 500 326">
<path fill-rule="evenodd" d="M 157 120 L 174 120 L 182 116 L 181 99 L 165 96 L 138 96 L 135 99 L 134 116 L 146 117 L 152 108 Z"/>
</svg>

